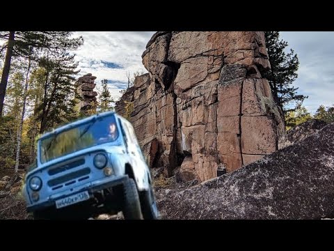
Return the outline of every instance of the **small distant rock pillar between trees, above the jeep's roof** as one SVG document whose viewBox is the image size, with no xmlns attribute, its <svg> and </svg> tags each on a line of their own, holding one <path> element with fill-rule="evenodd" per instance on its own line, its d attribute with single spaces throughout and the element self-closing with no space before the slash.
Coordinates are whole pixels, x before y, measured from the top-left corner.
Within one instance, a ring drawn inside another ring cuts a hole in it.
<svg viewBox="0 0 334 251">
<path fill-rule="evenodd" d="M 94 83 L 95 79 L 95 76 L 92 76 L 91 73 L 88 73 L 83 77 L 79 77 L 77 82 L 75 82 L 75 85 L 77 86 L 77 92 L 81 97 L 79 103 L 81 112 L 86 112 L 97 103 L 97 92 L 93 91 L 96 86 Z"/>
</svg>

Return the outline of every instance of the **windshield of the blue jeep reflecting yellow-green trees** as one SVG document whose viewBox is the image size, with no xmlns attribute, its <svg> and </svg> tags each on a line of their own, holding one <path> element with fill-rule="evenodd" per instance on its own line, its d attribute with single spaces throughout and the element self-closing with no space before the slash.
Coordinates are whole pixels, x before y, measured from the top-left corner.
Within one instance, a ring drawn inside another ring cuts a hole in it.
<svg viewBox="0 0 334 251">
<path fill-rule="evenodd" d="M 93 119 L 70 130 L 51 135 L 40 142 L 40 162 L 45 163 L 97 144 L 118 138 L 115 116 Z"/>
</svg>

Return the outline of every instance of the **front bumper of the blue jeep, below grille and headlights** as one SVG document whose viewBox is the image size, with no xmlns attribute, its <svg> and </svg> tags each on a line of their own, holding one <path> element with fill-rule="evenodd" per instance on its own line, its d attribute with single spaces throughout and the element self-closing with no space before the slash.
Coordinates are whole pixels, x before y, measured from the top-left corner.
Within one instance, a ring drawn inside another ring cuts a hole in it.
<svg viewBox="0 0 334 251">
<path fill-rule="evenodd" d="M 113 179 L 112 181 L 107 181 L 105 183 L 99 183 L 98 185 L 92 184 L 90 187 L 83 188 L 81 190 L 73 192 L 70 195 L 64 195 L 64 196 L 58 197 L 56 199 L 50 199 L 49 201 L 44 201 L 40 204 L 35 204 L 33 206 L 27 206 L 26 211 L 28 213 L 30 213 L 30 212 L 33 212 L 33 211 L 36 211 L 36 210 L 41 210 L 41 209 L 45 209 L 45 208 L 49 208 L 49 207 L 56 207 L 56 200 L 63 199 L 65 197 L 68 197 L 68 196 L 71 196 L 71 195 L 75 195 L 75 194 L 77 194 L 79 192 L 83 192 L 83 191 L 88 191 L 88 194 L 91 198 L 91 197 L 93 197 L 94 192 L 98 192 L 98 191 L 104 190 L 106 188 L 112 188 L 112 187 L 115 187 L 117 185 L 122 185 L 125 182 L 127 182 L 128 180 L 129 180 L 129 176 L 124 175 L 124 176 L 120 176 L 116 179 Z"/>
</svg>

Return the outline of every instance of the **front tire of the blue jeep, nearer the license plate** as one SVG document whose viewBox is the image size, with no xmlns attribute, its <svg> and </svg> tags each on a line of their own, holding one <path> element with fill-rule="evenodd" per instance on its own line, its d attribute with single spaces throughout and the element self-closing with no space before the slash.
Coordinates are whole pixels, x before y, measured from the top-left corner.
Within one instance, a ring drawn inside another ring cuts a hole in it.
<svg viewBox="0 0 334 251">
<path fill-rule="evenodd" d="M 124 198 L 123 198 L 123 215 L 125 220 L 142 220 L 141 215 L 141 202 L 139 201 L 139 195 L 136 183 L 132 178 L 129 178 L 124 183 Z"/>
</svg>

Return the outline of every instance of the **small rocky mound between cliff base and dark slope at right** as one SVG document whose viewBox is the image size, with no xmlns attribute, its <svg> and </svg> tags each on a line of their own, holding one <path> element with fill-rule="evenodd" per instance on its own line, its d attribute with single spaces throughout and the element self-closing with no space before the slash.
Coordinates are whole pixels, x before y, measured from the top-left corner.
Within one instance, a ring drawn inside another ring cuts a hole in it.
<svg viewBox="0 0 334 251">
<path fill-rule="evenodd" d="M 310 119 L 299 124 L 298 126 L 294 126 L 294 128 L 291 128 L 286 133 L 281 135 L 278 141 L 278 148 L 283 149 L 289 145 L 299 142 L 301 139 L 305 139 L 305 137 L 312 135 L 325 126 L 327 126 L 327 123 L 319 119 Z"/>
</svg>

